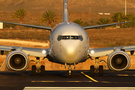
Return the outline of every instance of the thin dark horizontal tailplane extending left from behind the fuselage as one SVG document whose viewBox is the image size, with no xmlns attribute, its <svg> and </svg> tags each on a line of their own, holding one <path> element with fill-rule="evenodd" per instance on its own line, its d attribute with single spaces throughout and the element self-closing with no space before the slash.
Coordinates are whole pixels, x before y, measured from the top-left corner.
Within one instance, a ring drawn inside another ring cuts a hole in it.
<svg viewBox="0 0 135 90">
<path fill-rule="evenodd" d="M 8 23 L 8 24 L 14 24 L 14 25 L 20 25 L 20 26 L 26 26 L 26 27 L 32 27 L 32 28 L 38 28 L 38 29 L 46 29 L 52 31 L 52 27 L 44 27 L 44 26 L 37 26 L 37 25 L 28 25 L 28 24 L 20 24 L 20 23 L 12 23 L 12 22 L 3 22 L 1 23 Z"/>
</svg>

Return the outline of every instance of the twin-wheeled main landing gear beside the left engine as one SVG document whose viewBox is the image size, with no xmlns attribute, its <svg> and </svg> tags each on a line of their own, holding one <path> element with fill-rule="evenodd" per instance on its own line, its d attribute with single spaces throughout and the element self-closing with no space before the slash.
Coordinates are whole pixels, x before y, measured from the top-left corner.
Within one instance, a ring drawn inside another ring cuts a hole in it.
<svg viewBox="0 0 135 90">
<path fill-rule="evenodd" d="M 45 66 L 40 66 L 40 58 L 36 58 L 36 65 L 32 66 L 32 76 L 35 76 L 36 73 L 40 73 L 41 76 L 45 75 Z"/>
</svg>

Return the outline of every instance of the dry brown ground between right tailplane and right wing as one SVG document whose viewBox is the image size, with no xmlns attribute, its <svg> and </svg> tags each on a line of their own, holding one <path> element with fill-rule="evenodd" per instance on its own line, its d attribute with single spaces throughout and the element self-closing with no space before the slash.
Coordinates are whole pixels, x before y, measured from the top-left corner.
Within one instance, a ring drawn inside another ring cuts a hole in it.
<svg viewBox="0 0 135 90">
<path fill-rule="evenodd" d="M 135 45 L 135 28 L 87 30 L 92 47 Z"/>
</svg>

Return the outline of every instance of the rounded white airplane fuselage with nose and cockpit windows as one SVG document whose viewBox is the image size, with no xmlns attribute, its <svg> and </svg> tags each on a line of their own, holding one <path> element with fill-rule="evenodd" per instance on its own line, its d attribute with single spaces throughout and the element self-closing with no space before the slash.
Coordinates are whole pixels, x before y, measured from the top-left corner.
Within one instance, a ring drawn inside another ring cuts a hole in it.
<svg viewBox="0 0 135 90">
<path fill-rule="evenodd" d="M 87 59 L 89 37 L 78 24 L 63 22 L 58 24 L 50 39 L 51 59 L 62 64 L 77 64 Z"/>
</svg>

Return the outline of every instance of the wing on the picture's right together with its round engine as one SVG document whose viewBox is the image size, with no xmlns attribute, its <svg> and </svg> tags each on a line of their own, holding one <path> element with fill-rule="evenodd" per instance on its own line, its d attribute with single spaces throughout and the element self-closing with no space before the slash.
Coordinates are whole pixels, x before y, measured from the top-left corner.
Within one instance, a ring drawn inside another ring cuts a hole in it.
<svg viewBox="0 0 135 90">
<path fill-rule="evenodd" d="M 99 63 L 99 57 L 108 56 L 107 58 L 107 66 L 110 70 L 113 71 L 123 71 L 127 70 L 131 66 L 131 59 L 128 55 L 128 51 L 133 55 L 135 50 L 135 45 L 133 46 L 122 46 L 122 47 L 111 47 L 111 48 L 96 48 L 89 49 L 89 56 L 95 57 L 95 63 Z M 101 60 L 102 62 L 104 60 Z M 106 62 L 106 61 L 105 61 Z"/>
</svg>

